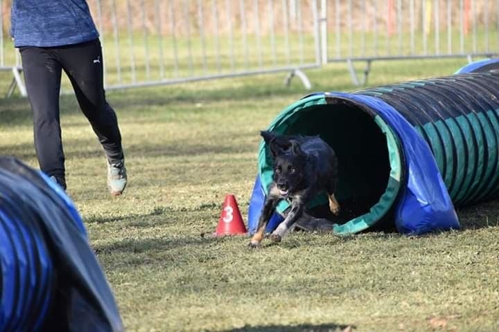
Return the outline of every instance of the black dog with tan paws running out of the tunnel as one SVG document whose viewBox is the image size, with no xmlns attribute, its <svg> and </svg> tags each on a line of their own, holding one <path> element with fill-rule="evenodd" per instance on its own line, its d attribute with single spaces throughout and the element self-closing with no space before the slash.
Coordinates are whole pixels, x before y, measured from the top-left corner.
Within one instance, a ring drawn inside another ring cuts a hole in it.
<svg viewBox="0 0 499 332">
<path fill-rule="evenodd" d="M 280 242 L 304 215 L 307 203 L 319 192 L 329 197 L 329 210 L 338 215 L 340 204 L 334 192 L 338 182 L 338 158 L 335 151 L 319 136 L 276 136 L 270 131 L 261 131 L 261 136 L 270 147 L 274 159 L 272 183 L 263 203 L 256 233 L 249 242 L 250 248 L 260 246 L 265 227 L 277 203 L 286 199 L 291 209 L 286 218 L 272 232 L 270 239 Z"/>
</svg>

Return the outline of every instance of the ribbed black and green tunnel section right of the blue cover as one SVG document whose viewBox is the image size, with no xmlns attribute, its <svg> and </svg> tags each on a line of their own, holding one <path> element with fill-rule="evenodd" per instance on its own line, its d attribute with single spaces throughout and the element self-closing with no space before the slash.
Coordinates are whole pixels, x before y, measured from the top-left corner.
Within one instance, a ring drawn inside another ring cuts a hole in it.
<svg viewBox="0 0 499 332">
<path fill-rule="evenodd" d="M 428 142 L 455 205 L 499 194 L 499 74 L 467 73 L 366 89 Z"/>
</svg>

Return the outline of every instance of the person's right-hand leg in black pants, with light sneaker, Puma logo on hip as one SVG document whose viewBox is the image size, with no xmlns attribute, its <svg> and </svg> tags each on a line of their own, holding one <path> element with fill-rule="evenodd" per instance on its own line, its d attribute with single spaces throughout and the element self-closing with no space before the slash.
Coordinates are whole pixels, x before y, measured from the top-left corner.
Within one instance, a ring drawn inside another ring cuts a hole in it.
<svg viewBox="0 0 499 332">
<path fill-rule="evenodd" d="M 107 156 L 107 185 L 111 194 L 125 190 L 127 175 L 116 113 L 105 99 L 103 56 L 98 39 L 58 48 L 80 107 L 87 116 Z"/>
</svg>

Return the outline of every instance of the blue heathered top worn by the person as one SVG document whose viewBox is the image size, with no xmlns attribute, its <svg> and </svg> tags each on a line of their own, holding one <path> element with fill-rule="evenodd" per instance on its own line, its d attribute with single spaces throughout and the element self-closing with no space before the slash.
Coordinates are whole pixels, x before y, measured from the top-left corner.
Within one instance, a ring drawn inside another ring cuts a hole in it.
<svg viewBox="0 0 499 332">
<path fill-rule="evenodd" d="M 10 35 L 15 47 L 64 46 L 98 38 L 85 0 L 13 0 Z"/>
</svg>

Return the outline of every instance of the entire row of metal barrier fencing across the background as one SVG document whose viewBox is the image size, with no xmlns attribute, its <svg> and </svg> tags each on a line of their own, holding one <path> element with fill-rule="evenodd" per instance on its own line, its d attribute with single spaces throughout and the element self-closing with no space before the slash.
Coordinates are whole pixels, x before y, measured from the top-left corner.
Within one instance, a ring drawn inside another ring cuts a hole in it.
<svg viewBox="0 0 499 332">
<path fill-rule="evenodd" d="M 0 71 L 21 80 L 0 0 Z M 301 71 L 346 62 L 356 84 L 377 59 L 475 57 L 499 49 L 499 0 L 87 0 L 106 89 Z M 353 62 L 365 62 L 359 80 Z"/>
</svg>

